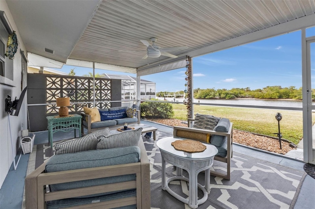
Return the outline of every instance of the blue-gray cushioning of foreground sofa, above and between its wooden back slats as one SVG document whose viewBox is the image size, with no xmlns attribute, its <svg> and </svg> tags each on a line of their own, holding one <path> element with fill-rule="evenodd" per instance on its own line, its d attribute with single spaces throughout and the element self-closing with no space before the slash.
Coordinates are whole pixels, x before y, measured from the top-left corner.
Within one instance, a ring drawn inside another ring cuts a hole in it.
<svg viewBox="0 0 315 209">
<path fill-rule="evenodd" d="M 50 157 L 46 166 L 45 171 L 57 172 L 67 171 L 82 168 L 93 168 L 108 165 L 119 165 L 126 163 L 139 162 L 140 160 L 140 148 L 137 146 L 124 147 L 117 149 L 106 149 L 106 150 L 92 150 L 80 153 L 68 153 L 63 155 L 55 155 Z M 118 183 L 126 181 L 134 181 L 135 175 L 122 175 L 115 177 L 107 177 L 93 180 L 69 182 L 69 183 L 58 183 L 50 185 L 51 191 L 60 191 L 65 189 L 73 189 L 108 183 Z M 115 192 L 107 192 L 102 194 L 87 195 L 84 197 L 96 197 L 104 194 L 110 194 Z"/>
</svg>

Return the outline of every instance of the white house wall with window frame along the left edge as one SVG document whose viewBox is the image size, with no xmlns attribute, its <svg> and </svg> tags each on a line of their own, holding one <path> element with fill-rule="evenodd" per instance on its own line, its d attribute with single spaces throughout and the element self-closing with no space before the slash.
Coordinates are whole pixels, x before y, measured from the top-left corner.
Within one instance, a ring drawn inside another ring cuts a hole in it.
<svg viewBox="0 0 315 209">
<path fill-rule="evenodd" d="M 11 12 L 6 4 L 6 1 L 0 0 L 0 10 L 4 11 L 9 24 L 12 29 L 15 30 L 18 39 L 18 51 L 15 54 L 13 59 L 13 80 L 8 78 L 0 78 L 0 188 L 4 179 L 10 169 L 10 166 L 13 163 L 13 155 L 10 141 L 10 130 L 8 123 L 8 114 L 5 112 L 5 103 L 4 100 L 7 98 L 7 95 L 11 96 L 11 99 L 14 100 L 20 97 L 21 89 L 24 86 L 21 86 L 21 72 L 22 72 L 22 55 L 21 50 L 26 52 L 23 40 L 21 39 L 19 29 L 16 27 Z M 1 76 L 0 76 L 1 77 Z M 26 80 L 24 76 L 23 80 Z M 13 139 L 13 153 L 16 156 L 17 149 L 20 147 L 18 141 L 18 131 L 22 129 L 22 123 L 26 126 L 26 98 L 24 98 L 22 110 L 20 111 L 19 116 L 9 116 L 11 133 Z M 18 168 L 17 168 L 18 169 Z"/>
</svg>

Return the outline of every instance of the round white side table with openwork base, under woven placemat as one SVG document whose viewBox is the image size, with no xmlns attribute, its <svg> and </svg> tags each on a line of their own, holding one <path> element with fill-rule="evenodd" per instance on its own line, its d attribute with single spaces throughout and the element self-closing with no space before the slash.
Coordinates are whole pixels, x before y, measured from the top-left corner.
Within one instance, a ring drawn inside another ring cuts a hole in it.
<svg viewBox="0 0 315 209">
<path fill-rule="evenodd" d="M 201 153 L 186 153 L 174 149 L 171 143 L 176 140 L 183 139 L 166 137 L 157 142 L 162 156 L 162 189 L 179 201 L 188 204 L 190 208 L 196 209 L 198 205 L 203 204 L 208 199 L 210 192 L 210 167 L 213 164 L 215 155 L 218 153 L 218 149 L 211 144 L 204 144 L 207 147 L 205 151 Z M 165 181 L 165 162 L 176 166 L 176 176 L 169 178 L 167 181 Z M 182 169 L 188 172 L 189 179 L 183 177 Z M 205 171 L 204 186 L 197 182 L 198 174 L 201 171 Z M 189 182 L 189 199 L 183 198 L 169 188 L 168 183 L 174 180 Z M 198 187 L 204 194 L 200 200 L 198 200 Z"/>
</svg>

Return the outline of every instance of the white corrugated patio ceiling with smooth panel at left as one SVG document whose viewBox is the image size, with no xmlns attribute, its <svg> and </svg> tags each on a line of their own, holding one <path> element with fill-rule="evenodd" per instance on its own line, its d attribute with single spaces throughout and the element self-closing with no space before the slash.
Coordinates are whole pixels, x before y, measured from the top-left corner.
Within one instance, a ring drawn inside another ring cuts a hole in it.
<svg viewBox="0 0 315 209">
<path fill-rule="evenodd" d="M 142 59 L 140 40 L 198 56 L 315 26 L 315 0 L 7 0 L 28 52 L 130 68 L 172 58 Z M 91 19 L 92 18 L 92 19 Z M 44 52 L 54 50 L 54 54 Z"/>
</svg>

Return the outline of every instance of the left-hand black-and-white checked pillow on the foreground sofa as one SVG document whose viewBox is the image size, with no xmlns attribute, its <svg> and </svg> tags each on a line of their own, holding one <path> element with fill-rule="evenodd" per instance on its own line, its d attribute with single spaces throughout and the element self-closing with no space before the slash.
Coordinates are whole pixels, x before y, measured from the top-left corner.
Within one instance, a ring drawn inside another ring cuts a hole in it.
<svg viewBox="0 0 315 209">
<path fill-rule="evenodd" d="M 95 150 L 99 135 L 109 135 L 109 128 L 95 131 L 80 138 L 71 139 L 55 146 L 55 155 Z"/>
</svg>

